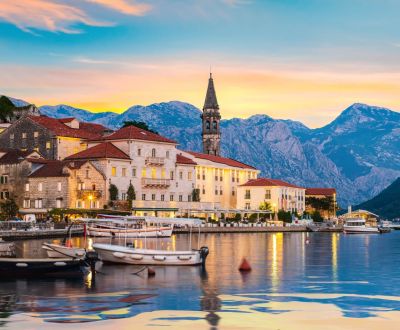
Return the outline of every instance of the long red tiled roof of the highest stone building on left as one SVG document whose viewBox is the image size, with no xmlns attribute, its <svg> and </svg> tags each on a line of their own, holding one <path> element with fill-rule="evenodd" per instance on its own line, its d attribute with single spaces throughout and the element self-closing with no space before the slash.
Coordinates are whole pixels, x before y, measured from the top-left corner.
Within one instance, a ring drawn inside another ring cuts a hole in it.
<svg viewBox="0 0 400 330">
<path fill-rule="evenodd" d="M 35 123 L 46 127 L 52 131 L 56 136 L 74 137 L 81 139 L 98 139 L 101 138 L 101 134 L 93 133 L 90 130 L 83 128 L 71 128 L 65 125 L 61 120 L 51 118 L 47 116 L 29 116 L 29 118 Z"/>
</svg>

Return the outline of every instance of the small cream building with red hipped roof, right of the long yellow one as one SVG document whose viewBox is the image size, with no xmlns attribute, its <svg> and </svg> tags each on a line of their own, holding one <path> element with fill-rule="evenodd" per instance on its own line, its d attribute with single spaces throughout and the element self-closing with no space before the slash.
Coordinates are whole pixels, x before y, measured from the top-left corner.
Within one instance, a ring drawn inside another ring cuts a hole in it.
<svg viewBox="0 0 400 330">
<path fill-rule="evenodd" d="M 305 211 L 305 188 L 292 185 L 282 180 L 259 178 L 249 180 L 238 187 L 239 209 L 259 210 L 268 203 L 271 211 Z"/>
</svg>

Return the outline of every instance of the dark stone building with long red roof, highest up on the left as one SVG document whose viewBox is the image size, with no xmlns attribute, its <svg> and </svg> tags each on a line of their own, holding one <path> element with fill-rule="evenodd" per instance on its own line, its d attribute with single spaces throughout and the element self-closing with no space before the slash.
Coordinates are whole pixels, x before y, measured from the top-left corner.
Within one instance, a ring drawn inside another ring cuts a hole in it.
<svg viewBox="0 0 400 330">
<path fill-rule="evenodd" d="M 0 134 L 0 145 L 21 151 L 37 151 L 47 159 L 61 160 L 86 149 L 89 139 L 98 139 L 108 130 L 99 124 L 75 118 L 25 116 Z"/>
</svg>

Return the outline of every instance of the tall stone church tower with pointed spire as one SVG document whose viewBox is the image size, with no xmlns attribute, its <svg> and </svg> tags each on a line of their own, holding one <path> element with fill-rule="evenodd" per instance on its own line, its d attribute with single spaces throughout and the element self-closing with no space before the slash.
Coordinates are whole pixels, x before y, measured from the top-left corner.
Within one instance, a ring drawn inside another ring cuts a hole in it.
<svg viewBox="0 0 400 330">
<path fill-rule="evenodd" d="M 219 126 L 221 115 L 219 114 L 212 73 L 210 73 L 210 79 L 208 79 L 206 100 L 204 101 L 201 119 L 203 121 L 203 131 L 201 134 L 203 137 L 203 152 L 219 156 L 221 150 L 221 130 Z"/>
</svg>

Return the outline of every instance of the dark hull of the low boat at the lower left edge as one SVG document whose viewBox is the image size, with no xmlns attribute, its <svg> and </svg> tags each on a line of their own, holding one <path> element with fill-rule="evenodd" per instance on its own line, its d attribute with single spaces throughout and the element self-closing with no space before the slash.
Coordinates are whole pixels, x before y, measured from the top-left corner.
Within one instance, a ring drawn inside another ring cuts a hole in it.
<svg viewBox="0 0 400 330">
<path fill-rule="evenodd" d="M 0 278 L 82 276 L 84 264 L 80 259 L 0 258 Z"/>
</svg>

